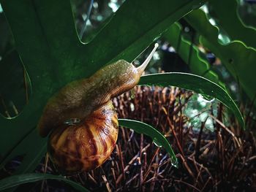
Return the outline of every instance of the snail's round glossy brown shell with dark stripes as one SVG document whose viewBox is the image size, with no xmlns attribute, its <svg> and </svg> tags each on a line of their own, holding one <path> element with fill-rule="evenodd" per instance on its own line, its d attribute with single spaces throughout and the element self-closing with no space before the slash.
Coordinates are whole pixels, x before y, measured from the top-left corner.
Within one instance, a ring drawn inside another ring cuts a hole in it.
<svg viewBox="0 0 256 192">
<path fill-rule="evenodd" d="M 117 137 L 118 119 L 109 101 L 80 123 L 54 129 L 48 152 L 59 172 L 88 172 L 108 159 L 116 147 Z"/>
</svg>

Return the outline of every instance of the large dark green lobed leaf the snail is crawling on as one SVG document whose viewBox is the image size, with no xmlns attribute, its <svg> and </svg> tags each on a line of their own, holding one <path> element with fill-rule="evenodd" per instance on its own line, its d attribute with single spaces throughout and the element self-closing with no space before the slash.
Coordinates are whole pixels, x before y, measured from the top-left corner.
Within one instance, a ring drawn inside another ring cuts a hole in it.
<svg viewBox="0 0 256 192">
<path fill-rule="evenodd" d="M 83 44 L 69 0 L 0 0 L 32 91 L 17 118 L 0 117 L 1 160 L 17 151 L 15 146 L 37 125 L 43 107 L 59 88 L 118 58 L 134 60 L 162 31 L 203 1 L 127 0 L 97 36 Z M 20 150 L 25 152 L 30 153 Z"/>
</svg>

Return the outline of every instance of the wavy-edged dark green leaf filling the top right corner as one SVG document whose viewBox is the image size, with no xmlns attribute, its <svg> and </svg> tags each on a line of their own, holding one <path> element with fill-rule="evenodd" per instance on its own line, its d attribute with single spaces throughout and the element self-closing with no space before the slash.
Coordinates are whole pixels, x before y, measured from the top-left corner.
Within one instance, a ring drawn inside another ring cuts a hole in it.
<svg viewBox="0 0 256 192">
<path fill-rule="evenodd" d="M 210 1 L 218 23 L 232 40 L 240 40 L 248 47 L 256 48 L 256 29 L 246 26 L 238 15 L 237 0 Z"/>
</svg>

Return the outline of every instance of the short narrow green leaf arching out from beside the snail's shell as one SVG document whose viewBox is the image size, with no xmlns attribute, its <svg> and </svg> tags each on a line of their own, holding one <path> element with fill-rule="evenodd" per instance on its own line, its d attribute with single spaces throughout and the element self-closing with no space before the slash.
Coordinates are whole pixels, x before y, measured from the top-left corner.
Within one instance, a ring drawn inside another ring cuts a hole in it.
<svg viewBox="0 0 256 192">
<path fill-rule="evenodd" d="M 129 120 L 129 119 L 118 119 L 119 126 L 124 126 L 131 128 L 139 134 L 146 134 L 153 139 L 153 142 L 157 146 L 162 146 L 167 150 L 170 155 L 171 163 L 173 166 L 178 167 L 178 159 L 176 158 L 175 153 L 173 152 L 170 143 L 167 141 L 165 136 L 163 136 L 157 129 L 152 126 L 149 126 L 146 123 L 140 122 L 138 120 Z"/>
</svg>

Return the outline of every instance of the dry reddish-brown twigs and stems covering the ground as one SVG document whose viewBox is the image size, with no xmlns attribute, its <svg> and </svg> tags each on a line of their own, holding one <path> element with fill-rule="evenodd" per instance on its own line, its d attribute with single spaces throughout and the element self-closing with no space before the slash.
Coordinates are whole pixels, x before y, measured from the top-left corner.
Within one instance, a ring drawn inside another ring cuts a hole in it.
<svg viewBox="0 0 256 192">
<path fill-rule="evenodd" d="M 141 120 L 165 134 L 175 150 L 178 168 L 151 138 L 119 128 L 116 150 L 108 161 L 71 180 L 91 191 L 256 191 L 253 120 L 246 119 L 243 131 L 219 104 L 217 117 L 213 112 L 208 115 L 214 122 L 214 131 L 209 131 L 207 118 L 195 128 L 184 115 L 192 92 L 139 86 L 131 94 L 113 99 L 118 118 Z M 224 117 L 229 126 L 223 123 Z"/>
</svg>

